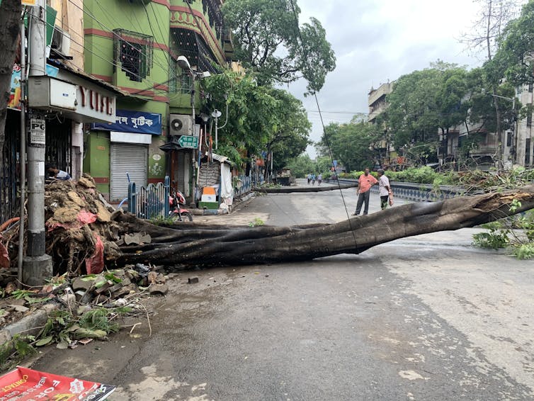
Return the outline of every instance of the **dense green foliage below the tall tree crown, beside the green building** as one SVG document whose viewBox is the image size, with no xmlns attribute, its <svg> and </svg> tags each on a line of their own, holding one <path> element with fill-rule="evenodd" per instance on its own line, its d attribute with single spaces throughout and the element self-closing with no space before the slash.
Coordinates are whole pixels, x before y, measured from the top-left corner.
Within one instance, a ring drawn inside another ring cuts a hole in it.
<svg viewBox="0 0 534 401">
<path fill-rule="evenodd" d="M 273 152 L 273 167 L 279 170 L 309 144 L 312 125 L 302 102 L 288 91 L 259 86 L 254 74 L 229 70 L 204 79 L 203 88 L 205 108 L 228 113 L 218 151 L 237 164 L 244 161 L 243 154 Z"/>
</svg>

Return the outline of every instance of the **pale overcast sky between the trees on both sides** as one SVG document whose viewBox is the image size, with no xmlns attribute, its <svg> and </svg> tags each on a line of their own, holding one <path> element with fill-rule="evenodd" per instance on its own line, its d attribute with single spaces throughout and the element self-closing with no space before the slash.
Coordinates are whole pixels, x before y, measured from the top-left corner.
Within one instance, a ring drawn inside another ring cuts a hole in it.
<svg viewBox="0 0 534 401">
<path fill-rule="evenodd" d="M 300 24 L 313 16 L 326 30 L 336 54 L 336 69 L 317 95 L 324 124 L 346 123 L 368 113 L 368 93 L 403 74 L 430 67 L 440 59 L 468 67 L 482 64 L 458 42 L 477 18 L 472 0 L 297 0 Z M 289 86 L 313 123 L 310 139 L 320 140 L 317 103 L 305 98 L 305 82 Z M 307 153 L 315 157 L 308 147 Z"/>
</svg>

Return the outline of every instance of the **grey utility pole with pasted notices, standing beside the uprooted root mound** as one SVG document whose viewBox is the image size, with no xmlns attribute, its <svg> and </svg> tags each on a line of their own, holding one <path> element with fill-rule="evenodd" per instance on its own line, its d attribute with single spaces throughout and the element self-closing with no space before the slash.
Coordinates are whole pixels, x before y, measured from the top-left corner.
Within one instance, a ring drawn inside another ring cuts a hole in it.
<svg viewBox="0 0 534 401">
<path fill-rule="evenodd" d="M 28 59 L 30 77 L 46 75 L 46 3 L 32 7 Z M 28 96 L 32 96 L 28 93 Z M 53 276 L 52 257 L 45 254 L 45 116 L 30 111 L 26 137 L 28 155 L 28 247 L 23 261 L 23 282 L 42 286 Z M 21 183 L 23 185 L 23 183 Z"/>
</svg>

